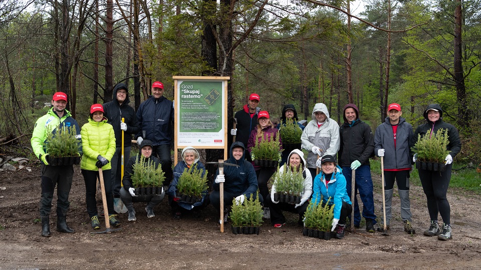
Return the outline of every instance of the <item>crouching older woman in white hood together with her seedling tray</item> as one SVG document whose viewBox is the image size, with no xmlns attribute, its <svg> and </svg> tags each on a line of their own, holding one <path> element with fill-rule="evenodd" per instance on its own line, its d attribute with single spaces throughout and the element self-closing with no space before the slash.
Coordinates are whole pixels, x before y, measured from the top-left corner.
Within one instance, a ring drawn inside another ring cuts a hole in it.
<svg viewBox="0 0 481 270">
<path fill-rule="evenodd" d="M 180 219 L 182 210 L 192 210 L 198 217 L 199 210 L 209 204 L 207 171 L 199 161 L 199 152 L 192 146 L 182 150 L 182 160 L 174 167 L 174 177 L 167 194 L 174 213 Z"/>
</svg>

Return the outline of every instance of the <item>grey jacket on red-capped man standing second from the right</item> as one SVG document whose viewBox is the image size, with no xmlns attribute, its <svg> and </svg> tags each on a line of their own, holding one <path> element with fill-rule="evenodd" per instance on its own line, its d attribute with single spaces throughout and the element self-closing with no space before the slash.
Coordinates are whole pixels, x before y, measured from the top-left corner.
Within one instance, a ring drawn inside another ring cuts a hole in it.
<svg viewBox="0 0 481 270">
<path fill-rule="evenodd" d="M 403 169 L 411 167 L 412 151 L 412 126 L 406 119 L 399 117 L 396 130 L 396 146 L 394 147 L 394 134 L 389 117 L 376 128 L 374 134 L 374 152 L 384 149 L 384 169 Z"/>
</svg>

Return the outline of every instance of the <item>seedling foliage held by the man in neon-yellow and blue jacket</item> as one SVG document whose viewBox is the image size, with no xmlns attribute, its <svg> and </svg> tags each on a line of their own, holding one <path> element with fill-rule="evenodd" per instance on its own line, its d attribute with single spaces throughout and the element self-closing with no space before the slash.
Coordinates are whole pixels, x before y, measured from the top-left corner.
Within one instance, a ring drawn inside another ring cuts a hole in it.
<svg viewBox="0 0 481 270">
<path fill-rule="evenodd" d="M 79 155 L 79 140 L 75 137 L 76 135 L 77 129 L 75 125 L 71 126 L 70 129 L 65 125 L 57 126 L 57 132 L 55 134 L 49 133 L 44 142 L 44 147 L 47 149 L 46 152 L 50 156 L 56 157 Z"/>
</svg>

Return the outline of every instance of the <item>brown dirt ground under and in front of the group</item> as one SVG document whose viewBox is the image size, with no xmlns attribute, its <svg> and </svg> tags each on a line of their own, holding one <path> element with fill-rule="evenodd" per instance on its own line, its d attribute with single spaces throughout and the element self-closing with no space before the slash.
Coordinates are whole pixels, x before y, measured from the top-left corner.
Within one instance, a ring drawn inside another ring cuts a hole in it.
<svg viewBox="0 0 481 270">
<path fill-rule="evenodd" d="M 234 235 L 230 224 L 220 233 L 210 205 L 202 217 L 172 217 L 167 200 L 147 218 L 144 203 L 134 203 L 137 221 L 120 214 L 121 231 L 91 234 L 85 206 L 85 186 L 75 167 L 67 221 L 76 233 L 55 230 L 42 237 L 38 204 L 40 167 L 0 171 L 0 269 L 479 269 L 481 268 L 481 198 L 449 190 L 453 239 L 439 241 L 422 235 L 429 217 L 421 187 L 411 186 L 411 211 L 416 234 L 403 231 L 399 197 L 393 198 L 390 236 L 364 229 L 344 239 L 320 240 L 302 235 L 294 214 L 287 225 L 274 228 L 269 220 L 260 235 Z M 380 177 L 373 175 L 375 208 L 382 222 Z M 54 197 L 54 201 L 56 197 Z M 98 207 L 102 209 L 100 195 Z M 103 219 L 101 220 L 103 223 Z M 376 225 L 377 226 L 377 225 Z"/>
</svg>

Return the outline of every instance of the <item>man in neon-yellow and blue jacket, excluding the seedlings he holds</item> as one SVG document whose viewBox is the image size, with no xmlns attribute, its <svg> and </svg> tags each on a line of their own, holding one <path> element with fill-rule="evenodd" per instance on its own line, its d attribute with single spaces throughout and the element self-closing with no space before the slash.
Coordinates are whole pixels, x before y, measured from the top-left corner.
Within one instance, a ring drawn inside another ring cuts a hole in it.
<svg viewBox="0 0 481 270">
<path fill-rule="evenodd" d="M 40 217 L 42 218 L 42 236 L 50 237 L 50 212 L 52 209 L 52 199 L 54 196 L 55 186 L 57 185 L 57 230 L 60 232 L 73 233 L 74 229 L 67 225 L 67 211 L 69 210 L 70 201 L 69 194 L 72 187 L 72 177 L 74 175 L 73 165 L 51 166 L 47 161 L 46 148 L 44 141 L 49 134 L 60 132 L 60 128 L 75 128 L 77 138 L 79 139 L 79 153 L 82 152 L 82 143 L 80 140 L 80 127 L 77 121 L 72 117 L 70 111 L 66 110 L 67 94 L 64 92 L 56 92 L 52 98 L 52 107 L 47 114 L 40 117 L 35 123 L 32 133 L 32 149 L 35 155 L 42 161 L 41 172 L 41 188 L 42 194 L 40 198 Z"/>
</svg>

